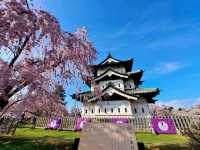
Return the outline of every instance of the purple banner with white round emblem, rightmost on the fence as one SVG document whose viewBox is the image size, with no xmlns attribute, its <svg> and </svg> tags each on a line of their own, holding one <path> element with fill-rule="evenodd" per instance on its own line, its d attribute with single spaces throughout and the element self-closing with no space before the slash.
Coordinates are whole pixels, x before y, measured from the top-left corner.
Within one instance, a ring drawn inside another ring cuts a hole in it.
<svg viewBox="0 0 200 150">
<path fill-rule="evenodd" d="M 157 134 L 176 134 L 176 127 L 171 118 L 152 118 L 151 124 Z"/>
</svg>

